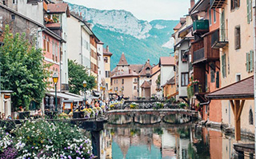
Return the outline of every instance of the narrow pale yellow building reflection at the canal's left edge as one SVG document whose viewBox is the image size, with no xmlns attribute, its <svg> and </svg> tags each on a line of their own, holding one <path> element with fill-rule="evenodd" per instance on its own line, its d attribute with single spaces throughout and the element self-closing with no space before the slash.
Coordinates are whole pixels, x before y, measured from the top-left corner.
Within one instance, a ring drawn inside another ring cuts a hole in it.
<svg viewBox="0 0 256 159">
<path fill-rule="evenodd" d="M 110 159 L 112 158 L 112 137 L 110 130 L 104 129 L 101 132 L 100 138 L 101 145 L 101 158 Z"/>
</svg>

